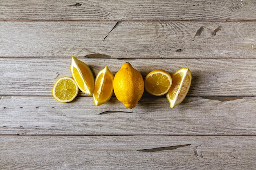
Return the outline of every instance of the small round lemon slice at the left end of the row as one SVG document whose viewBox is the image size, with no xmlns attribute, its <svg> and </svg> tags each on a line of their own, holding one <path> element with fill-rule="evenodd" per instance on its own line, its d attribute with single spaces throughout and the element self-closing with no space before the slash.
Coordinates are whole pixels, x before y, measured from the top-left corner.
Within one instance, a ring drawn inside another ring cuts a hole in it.
<svg viewBox="0 0 256 170">
<path fill-rule="evenodd" d="M 78 94 L 76 82 L 71 77 L 59 78 L 52 88 L 52 96 L 58 102 L 71 102 Z"/>
</svg>

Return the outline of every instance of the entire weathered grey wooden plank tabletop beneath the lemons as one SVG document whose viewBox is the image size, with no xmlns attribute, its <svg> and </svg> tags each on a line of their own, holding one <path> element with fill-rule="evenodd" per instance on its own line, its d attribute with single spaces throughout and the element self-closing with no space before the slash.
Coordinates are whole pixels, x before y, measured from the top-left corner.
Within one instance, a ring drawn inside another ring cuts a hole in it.
<svg viewBox="0 0 256 170">
<path fill-rule="evenodd" d="M 71 56 L 192 84 L 173 109 L 59 103 Z M 0 170 L 19 169 L 255 170 L 256 0 L 0 0 Z"/>
</svg>

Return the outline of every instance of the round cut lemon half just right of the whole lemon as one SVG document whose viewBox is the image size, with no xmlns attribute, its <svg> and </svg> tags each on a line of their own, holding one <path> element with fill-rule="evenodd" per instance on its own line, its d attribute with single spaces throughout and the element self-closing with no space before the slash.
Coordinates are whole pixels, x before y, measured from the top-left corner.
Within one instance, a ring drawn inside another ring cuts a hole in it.
<svg viewBox="0 0 256 170">
<path fill-rule="evenodd" d="M 144 79 L 145 90 L 155 96 L 166 94 L 171 84 L 171 75 L 162 69 L 151 71 Z"/>
</svg>

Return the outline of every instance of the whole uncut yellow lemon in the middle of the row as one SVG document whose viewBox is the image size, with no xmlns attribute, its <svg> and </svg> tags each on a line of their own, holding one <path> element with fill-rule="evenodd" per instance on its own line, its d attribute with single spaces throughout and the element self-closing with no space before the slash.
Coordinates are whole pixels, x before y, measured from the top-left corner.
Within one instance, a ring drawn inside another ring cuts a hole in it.
<svg viewBox="0 0 256 170">
<path fill-rule="evenodd" d="M 144 92 L 144 80 L 141 73 L 128 62 L 117 71 L 113 81 L 117 99 L 127 108 L 134 108 Z"/>
</svg>

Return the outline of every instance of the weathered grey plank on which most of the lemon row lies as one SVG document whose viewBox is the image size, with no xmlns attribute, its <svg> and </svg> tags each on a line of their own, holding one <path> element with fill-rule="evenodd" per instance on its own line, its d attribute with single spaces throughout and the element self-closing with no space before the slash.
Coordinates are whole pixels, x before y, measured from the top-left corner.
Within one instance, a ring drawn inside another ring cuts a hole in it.
<svg viewBox="0 0 256 170">
<path fill-rule="evenodd" d="M 256 96 L 256 59 L 85 59 L 96 75 L 108 65 L 115 74 L 124 62 L 130 62 L 145 77 L 162 68 L 174 73 L 182 67 L 192 72 L 189 96 Z M 0 58 L 0 95 L 47 95 L 59 77 L 72 76 L 70 59 Z M 83 95 L 80 93 L 80 95 Z"/>
</svg>

